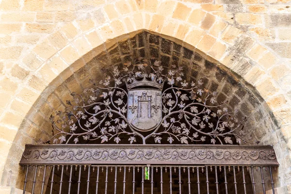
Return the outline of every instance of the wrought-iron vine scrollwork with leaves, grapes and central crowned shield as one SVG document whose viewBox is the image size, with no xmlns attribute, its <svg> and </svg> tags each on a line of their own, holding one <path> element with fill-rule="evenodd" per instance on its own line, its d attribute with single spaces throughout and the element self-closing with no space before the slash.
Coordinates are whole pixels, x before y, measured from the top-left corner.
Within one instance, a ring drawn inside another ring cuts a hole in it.
<svg viewBox="0 0 291 194">
<path fill-rule="evenodd" d="M 183 68 L 137 59 L 105 69 L 105 78 L 72 93 L 65 112 L 51 115 L 54 144 L 241 144 L 242 122 L 203 81 L 185 79 Z"/>
</svg>

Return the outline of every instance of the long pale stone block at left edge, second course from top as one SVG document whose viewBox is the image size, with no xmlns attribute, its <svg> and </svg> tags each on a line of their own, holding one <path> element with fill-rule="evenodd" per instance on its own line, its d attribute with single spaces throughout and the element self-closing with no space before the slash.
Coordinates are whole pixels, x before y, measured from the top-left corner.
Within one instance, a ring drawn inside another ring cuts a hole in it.
<svg viewBox="0 0 291 194">
<path fill-rule="evenodd" d="M 12 12 L 1 14 L 1 22 L 32 22 L 34 21 L 35 13 L 30 12 Z"/>
</svg>

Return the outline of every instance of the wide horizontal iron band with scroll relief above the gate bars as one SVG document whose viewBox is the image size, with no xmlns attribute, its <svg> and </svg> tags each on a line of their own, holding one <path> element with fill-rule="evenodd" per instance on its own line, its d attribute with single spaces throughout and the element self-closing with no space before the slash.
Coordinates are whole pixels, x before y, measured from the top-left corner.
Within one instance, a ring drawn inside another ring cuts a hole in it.
<svg viewBox="0 0 291 194">
<path fill-rule="evenodd" d="M 26 145 L 20 165 L 204 164 L 278 166 L 273 146 Z"/>
</svg>

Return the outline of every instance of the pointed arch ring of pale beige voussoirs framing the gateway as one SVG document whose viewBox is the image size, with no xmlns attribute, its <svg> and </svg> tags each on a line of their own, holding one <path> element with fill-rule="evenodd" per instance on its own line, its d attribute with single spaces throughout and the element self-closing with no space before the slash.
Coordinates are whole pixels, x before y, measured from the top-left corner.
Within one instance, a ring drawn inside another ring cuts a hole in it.
<svg viewBox="0 0 291 194">
<path fill-rule="evenodd" d="M 24 56 L 21 61 L 28 65 L 32 74 L 30 80 L 21 87 L 11 83 L 18 89 L 16 95 L 9 99 L 7 111 L 2 115 L 2 121 L 8 128 L 7 131 L 15 133 L 18 128 L 22 128 L 23 119 L 28 118 L 36 122 L 39 117 L 42 117 L 42 115 L 37 115 L 39 106 L 38 101 L 35 102 L 35 100 L 46 98 L 43 93 L 45 88 L 47 88 L 46 91 L 54 90 L 56 85 L 67 80 L 102 50 L 110 48 L 124 37 L 130 37 L 130 32 L 134 34 L 135 31 L 146 29 L 165 34 L 170 40 L 177 38 L 176 42 L 184 41 L 194 46 L 255 86 L 270 106 L 275 120 L 279 122 L 278 130 L 274 133 L 279 139 L 284 139 L 282 147 L 286 147 L 285 142 L 288 143 L 289 136 L 285 126 L 289 124 L 289 121 L 284 110 L 290 110 L 289 97 L 286 96 L 288 88 L 284 84 L 280 85 L 277 80 L 280 76 L 287 74 L 275 66 L 282 66 L 282 59 L 274 52 L 267 51 L 258 39 L 252 38 L 225 19 L 203 9 L 195 9 L 189 3 L 158 1 L 156 5 L 151 6 L 144 1 L 139 2 L 116 1 L 111 5 L 102 5 L 105 12 L 112 10 L 106 12 L 106 17 L 108 17 L 106 22 L 101 25 L 94 24 L 92 28 L 81 27 L 75 21 L 68 23 Z M 163 3 L 166 4 L 166 9 L 156 11 L 157 7 L 162 6 Z M 121 11 L 120 6 L 127 7 L 128 11 Z M 185 12 L 182 11 L 183 14 L 178 15 L 175 14 L 176 9 L 185 9 Z M 173 14 L 170 14 L 171 11 Z M 200 18 L 191 19 L 191 15 L 198 15 Z M 30 117 L 31 115 L 34 115 L 33 118 Z M 14 152 L 11 147 L 14 137 L 9 138 L 5 142 L 1 155 L 5 159 L 7 159 L 8 150 L 10 153 Z M 24 137 L 17 138 L 17 136 L 14 139 L 14 143 L 16 142 L 21 146 L 27 143 Z M 286 153 L 285 156 L 289 158 Z M 9 157 L 13 155 L 9 154 Z"/>
</svg>

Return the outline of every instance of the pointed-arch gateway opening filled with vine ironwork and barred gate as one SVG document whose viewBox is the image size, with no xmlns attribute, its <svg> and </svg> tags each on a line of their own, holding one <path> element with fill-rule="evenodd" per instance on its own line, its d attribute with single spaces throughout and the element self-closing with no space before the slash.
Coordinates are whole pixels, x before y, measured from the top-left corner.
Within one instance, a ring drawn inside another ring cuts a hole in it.
<svg viewBox="0 0 291 194">
<path fill-rule="evenodd" d="M 24 192 L 274 192 L 275 151 L 258 146 L 273 127 L 264 100 L 181 42 L 120 40 L 53 93 L 52 127 L 20 161 Z"/>
</svg>

